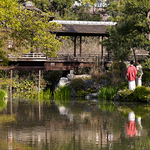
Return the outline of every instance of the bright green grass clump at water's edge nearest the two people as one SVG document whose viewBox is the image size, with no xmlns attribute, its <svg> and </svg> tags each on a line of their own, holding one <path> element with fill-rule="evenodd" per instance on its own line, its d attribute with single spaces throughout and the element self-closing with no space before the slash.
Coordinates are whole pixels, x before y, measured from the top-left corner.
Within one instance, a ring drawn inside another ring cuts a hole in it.
<svg viewBox="0 0 150 150">
<path fill-rule="evenodd" d="M 99 90 L 98 98 L 111 100 L 117 94 L 119 88 L 118 87 L 101 87 Z"/>
</svg>

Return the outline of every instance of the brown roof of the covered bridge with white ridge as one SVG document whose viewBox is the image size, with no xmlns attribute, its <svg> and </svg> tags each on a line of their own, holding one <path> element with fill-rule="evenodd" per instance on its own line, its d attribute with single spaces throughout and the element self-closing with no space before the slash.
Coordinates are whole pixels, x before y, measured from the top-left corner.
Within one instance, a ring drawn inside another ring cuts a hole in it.
<svg viewBox="0 0 150 150">
<path fill-rule="evenodd" d="M 56 31 L 60 36 L 107 36 L 107 26 L 116 25 L 116 22 L 100 22 L 100 21 L 66 21 L 53 20 L 62 24 L 61 29 Z"/>
</svg>

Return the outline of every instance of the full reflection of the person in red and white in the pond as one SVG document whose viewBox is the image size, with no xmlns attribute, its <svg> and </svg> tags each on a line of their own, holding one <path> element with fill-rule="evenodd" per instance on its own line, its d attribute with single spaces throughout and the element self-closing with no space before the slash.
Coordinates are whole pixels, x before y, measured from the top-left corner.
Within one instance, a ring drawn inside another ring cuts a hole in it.
<svg viewBox="0 0 150 150">
<path fill-rule="evenodd" d="M 134 137 L 136 133 L 136 122 L 134 112 L 128 114 L 128 123 L 127 123 L 127 135 L 129 137 Z"/>
</svg>

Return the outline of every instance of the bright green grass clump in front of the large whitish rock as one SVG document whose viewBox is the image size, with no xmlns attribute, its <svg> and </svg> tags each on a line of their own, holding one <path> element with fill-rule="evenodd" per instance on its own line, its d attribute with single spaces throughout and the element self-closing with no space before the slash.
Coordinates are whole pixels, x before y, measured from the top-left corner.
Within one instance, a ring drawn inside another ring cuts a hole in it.
<svg viewBox="0 0 150 150">
<path fill-rule="evenodd" d="M 68 86 L 59 86 L 54 92 L 54 100 L 69 100 L 71 98 L 71 89 Z"/>
</svg>

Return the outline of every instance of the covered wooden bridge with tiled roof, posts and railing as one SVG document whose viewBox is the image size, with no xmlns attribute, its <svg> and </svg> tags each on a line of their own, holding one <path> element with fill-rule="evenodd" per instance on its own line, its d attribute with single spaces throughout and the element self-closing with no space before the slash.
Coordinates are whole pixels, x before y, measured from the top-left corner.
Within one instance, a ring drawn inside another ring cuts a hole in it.
<svg viewBox="0 0 150 150">
<path fill-rule="evenodd" d="M 10 59 L 8 70 L 73 70 L 77 67 L 93 67 L 95 55 L 82 54 L 82 36 L 98 36 L 101 41 L 107 36 L 107 26 L 115 25 L 113 22 L 96 21 L 62 21 L 54 20 L 62 24 L 61 29 L 55 31 L 57 36 L 74 37 L 74 54 L 58 54 L 56 58 L 47 58 L 42 53 L 27 53 L 20 56 L 8 55 Z M 76 55 L 76 38 L 80 37 L 80 55 Z M 103 46 L 99 46 L 99 54 L 103 56 Z M 0 64 L 2 60 L 0 61 Z M 2 66 L 0 69 L 4 69 Z"/>
</svg>

